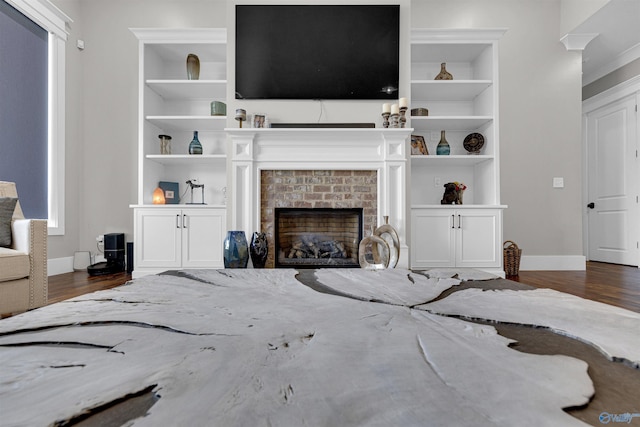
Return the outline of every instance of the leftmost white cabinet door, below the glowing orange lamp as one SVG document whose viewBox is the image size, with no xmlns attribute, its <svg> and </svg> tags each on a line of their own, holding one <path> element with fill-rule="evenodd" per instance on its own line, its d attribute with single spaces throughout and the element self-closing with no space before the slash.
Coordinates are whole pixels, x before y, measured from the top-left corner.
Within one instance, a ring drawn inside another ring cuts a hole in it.
<svg viewBox="0 0 640 427">
<path fill-rule="evenodd" d="M 135 210 L 135 268 L 181 265 L 180 209 Z"/>
</svg>

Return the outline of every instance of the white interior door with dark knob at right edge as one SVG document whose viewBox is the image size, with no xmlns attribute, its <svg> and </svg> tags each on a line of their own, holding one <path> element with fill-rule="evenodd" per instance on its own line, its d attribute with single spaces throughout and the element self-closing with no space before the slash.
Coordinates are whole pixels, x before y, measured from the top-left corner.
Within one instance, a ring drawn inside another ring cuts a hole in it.
<svg viewBox="0 0 640 427">
<path fill-rule="evenodd" d="M 587 114 L 588 257 L 638 265 L 636 95 Z"/>
</svg>

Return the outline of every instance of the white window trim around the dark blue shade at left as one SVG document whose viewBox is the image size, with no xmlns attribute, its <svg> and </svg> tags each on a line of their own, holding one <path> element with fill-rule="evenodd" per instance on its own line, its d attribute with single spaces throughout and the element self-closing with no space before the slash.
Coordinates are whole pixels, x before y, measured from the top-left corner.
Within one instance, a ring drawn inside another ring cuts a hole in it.
<svg viewBox="0 0 640 427">
<path fill-rule="evenodd" d="M 3 9 L 12 6 L 46 32 L 47 219 L 49 234 L 61 235 L 64 234 L 65 42 L 66 24 L 71 20 L 48 0 L 0 1 L 4 3 Z"/>
</svg>

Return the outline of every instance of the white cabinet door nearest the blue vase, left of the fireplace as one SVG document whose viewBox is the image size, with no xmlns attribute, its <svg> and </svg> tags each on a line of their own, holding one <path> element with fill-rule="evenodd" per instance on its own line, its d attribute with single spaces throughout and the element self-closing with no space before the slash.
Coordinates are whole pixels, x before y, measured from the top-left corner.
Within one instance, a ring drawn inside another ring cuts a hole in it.
<svg viewBox="0 0 640 427">
<path fill-rule="evenodd" d="M 182 266 L 222 268 L 222 244 L 226 223 L 224 209 L 182 211 Z"/>
</svg>

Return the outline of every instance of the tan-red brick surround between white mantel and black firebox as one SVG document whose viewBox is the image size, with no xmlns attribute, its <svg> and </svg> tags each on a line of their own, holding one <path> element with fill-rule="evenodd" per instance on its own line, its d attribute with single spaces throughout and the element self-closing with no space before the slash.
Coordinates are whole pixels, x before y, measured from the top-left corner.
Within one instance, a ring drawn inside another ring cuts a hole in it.
<svg viewBox="0 0 640 427">
<path fill-rule="evenodd" d="M 364 236 L 369 235 L 378 224 L 378 173 L 375 170 L 263 170 L 260 182 L 260 229 L 267 234 L 269 242 L 267 267 L 276 264 L 275 211 L 278 208 L 361 209 L 360 238 L 363 231 Z M 335 221 L 339 222 L 337 218 Z M 359 240 L 355 244 L 358 243 Z M 349 249 L 351 257 L 353 247 Z M 355 258 L 357 265 L 357 256 Z"/>
</svg>

